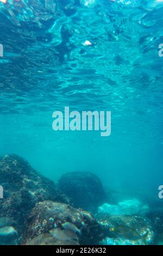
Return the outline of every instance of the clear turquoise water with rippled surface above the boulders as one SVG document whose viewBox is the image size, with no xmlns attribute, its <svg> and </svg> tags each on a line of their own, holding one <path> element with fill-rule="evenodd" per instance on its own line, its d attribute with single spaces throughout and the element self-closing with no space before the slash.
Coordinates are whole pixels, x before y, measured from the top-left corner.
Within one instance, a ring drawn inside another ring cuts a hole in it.
<svg viewBox="0 0 163 256">
<path fill-rule="evenodd" d="M 162 11 L 156 0 L 0 3 L 0 155 L 55 182 L 90 171 L 122 197 L 161 202 Z M 65 106 L 111 111 L 111 135 L 54 131 L 52 113 Z"/>
</svg>

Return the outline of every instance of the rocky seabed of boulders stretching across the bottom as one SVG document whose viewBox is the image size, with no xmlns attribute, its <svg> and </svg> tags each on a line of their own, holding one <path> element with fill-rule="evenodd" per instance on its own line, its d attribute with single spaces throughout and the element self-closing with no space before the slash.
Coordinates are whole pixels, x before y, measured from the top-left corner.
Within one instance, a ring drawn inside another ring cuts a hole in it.
<svg viewBox="0 0 163 256">
<path fill-rule="evenodd" d="M 58 184 L 17 155 L 0 161 L 4 199 L 0 201 L 1 245 L 161 245 L 163 211 L 150 197 L 118 202 L 90 172 L 61 176 Z M 148 205 L 147 205 L 148 203 Z M 118 236 L 111 227 L 122 227 Z M 123 236 L 129 228 L 129 238 Z M 135 238 L 134 234 L 139 234 Z M 146 239 L 145 239 L 146 238 Z"/>
</svg>

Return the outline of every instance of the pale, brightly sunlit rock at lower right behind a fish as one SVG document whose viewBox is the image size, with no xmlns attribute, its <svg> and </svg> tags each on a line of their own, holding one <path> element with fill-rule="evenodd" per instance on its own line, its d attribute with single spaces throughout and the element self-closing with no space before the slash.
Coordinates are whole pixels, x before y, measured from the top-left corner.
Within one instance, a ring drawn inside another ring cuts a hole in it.
<svg viewBox="0 0 163 256">
<path fill-rule="evenodd" d="M 149 208 L 139 200 L 124 200 L 117 205 L 103 204 L 96 220 L 108 230 L 104 245 L 146 245 L 154 240 L 151 221 L 145 217 Z"/>
</svg>

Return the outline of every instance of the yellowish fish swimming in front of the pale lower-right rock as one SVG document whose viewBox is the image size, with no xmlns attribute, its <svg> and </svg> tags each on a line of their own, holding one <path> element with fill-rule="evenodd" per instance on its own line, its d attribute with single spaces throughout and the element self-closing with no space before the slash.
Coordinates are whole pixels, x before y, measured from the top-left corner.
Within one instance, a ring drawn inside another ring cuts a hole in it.
<svg viewBox="0 0 163 256">
<path fill-rule="evenodd" d="M 114 234 L 117 237 L 121 237 L 122 239 L 127 239 L 127 240 L 142 239 L 143 242 L 145 242 L 146 244 L 146 238 L 147 238 L 148 232 L 142 236 L 139 233 L 137 233 L 136 230 L 126 225 L 117 225 L 115 227 L 111 227 L 110 231 L 112 234 Z"/>
</svg>

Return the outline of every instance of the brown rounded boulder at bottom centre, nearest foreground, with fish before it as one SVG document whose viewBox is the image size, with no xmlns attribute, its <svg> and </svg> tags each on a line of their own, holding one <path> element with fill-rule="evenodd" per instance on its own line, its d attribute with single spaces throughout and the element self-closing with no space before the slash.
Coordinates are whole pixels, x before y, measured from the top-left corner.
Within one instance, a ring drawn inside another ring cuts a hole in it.
<svg viewBox="0 0 163 256">
<path fill-rule="evenodd" d="M 27 245 L 96 245 L 104 238 L 103 227 L 89 212 L 70 205 L 44 201 L 37 203 L 27 219 Z"/>
</svg>

